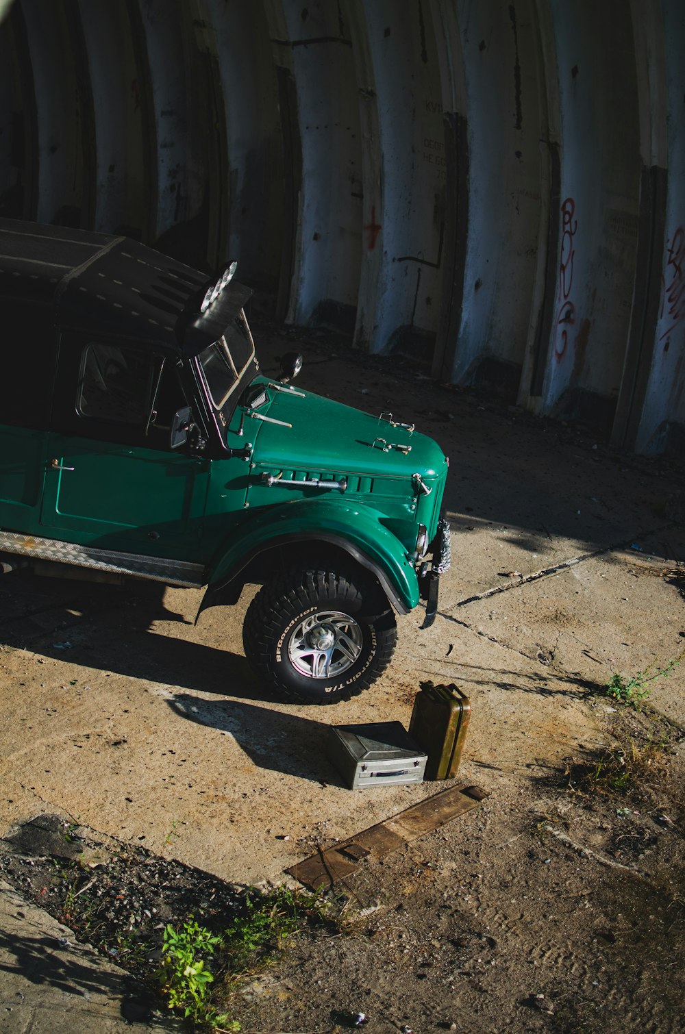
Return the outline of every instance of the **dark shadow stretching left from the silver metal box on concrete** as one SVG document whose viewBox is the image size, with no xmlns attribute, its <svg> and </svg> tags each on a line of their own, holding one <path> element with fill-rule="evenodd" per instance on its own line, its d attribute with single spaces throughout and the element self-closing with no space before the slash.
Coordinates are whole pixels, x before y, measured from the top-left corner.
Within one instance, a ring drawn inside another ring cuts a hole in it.
<svg viewBox="0 0 685 1034">
<path fill-rule="evenodd" d="M 168 703 L 181 718 L 231 735 L 260 768 L 322 786 L 344 786 L 326 756 L 329 726 L 323 722 L 237 700 L 203 700 L 187 693 L 175 693 Z"/>
</svg>

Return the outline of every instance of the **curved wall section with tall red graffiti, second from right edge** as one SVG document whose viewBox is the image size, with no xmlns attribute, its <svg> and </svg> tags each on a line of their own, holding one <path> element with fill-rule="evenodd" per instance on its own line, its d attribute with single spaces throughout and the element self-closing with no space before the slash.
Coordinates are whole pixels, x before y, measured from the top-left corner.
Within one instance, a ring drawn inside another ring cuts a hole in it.
<svg viewBox="0 0 685 1034">
<path fill-rule="evenodd" d="M 641 186 L 629 8 L 552 4 L 561 107 L 555 318 L 542 409 L 608 430 L 630 325 Z"/>
</svg>

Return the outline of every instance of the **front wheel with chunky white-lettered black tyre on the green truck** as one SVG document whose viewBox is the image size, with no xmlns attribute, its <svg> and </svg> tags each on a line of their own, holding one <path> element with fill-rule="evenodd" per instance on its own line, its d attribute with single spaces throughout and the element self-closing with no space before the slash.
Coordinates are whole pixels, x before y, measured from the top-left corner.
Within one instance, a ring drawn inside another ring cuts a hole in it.
<svg viewBox="0 0 685 1034">
<path fill-rule="evenodd" d="M 387 668 L 397 632 L 384 594 L 363 572 L 298 570 L 264 585 L 243 626 L 255 672 L 285 696 L 335 703 Z"/>
</svg>

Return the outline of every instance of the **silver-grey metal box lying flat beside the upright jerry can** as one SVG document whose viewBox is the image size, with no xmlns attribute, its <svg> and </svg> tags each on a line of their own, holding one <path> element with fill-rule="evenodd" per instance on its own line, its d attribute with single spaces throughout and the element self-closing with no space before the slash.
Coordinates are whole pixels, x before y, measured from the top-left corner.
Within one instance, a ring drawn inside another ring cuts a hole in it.
<svg viewBox="0 0 685 1034">
<path fill-rule="evenodd" d="M 352 790 L 423 782 L 427 755 L 401 722 L 331 726 L 328 748 Z"/>
</svg>

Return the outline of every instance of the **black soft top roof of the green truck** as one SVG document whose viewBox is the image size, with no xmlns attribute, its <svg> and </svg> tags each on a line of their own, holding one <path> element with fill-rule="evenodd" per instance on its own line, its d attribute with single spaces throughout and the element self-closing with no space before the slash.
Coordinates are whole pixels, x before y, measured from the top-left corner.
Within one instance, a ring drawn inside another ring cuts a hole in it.
<svg viewBox="0 0 685 1034">
<path fill-rule="evenodd" d="M 86 332 L 171 344 L 197 355 L 251 295 L 231 281 L 204 312 L 214 278 L 125 237 L 0 219 L 2 298 L 54 303 L 55 322 Z"/>
</svg>

